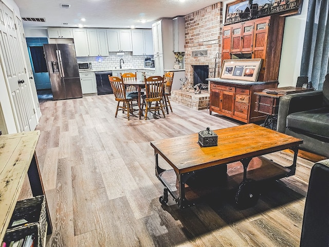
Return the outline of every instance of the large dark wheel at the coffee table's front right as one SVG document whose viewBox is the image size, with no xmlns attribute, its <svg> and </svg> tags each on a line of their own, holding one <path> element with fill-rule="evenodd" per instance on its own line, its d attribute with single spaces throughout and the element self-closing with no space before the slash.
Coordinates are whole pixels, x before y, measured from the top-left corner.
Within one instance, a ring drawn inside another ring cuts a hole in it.
<svg viewBox="0 0 329 247">
<path fill-rule="evenodd" d="M 254 206 L 261 193 L 257 183 L 252 179 L 242 181 L 235 194 L 235 203 L 239 208 L 248 208 Z"/>
</svg>

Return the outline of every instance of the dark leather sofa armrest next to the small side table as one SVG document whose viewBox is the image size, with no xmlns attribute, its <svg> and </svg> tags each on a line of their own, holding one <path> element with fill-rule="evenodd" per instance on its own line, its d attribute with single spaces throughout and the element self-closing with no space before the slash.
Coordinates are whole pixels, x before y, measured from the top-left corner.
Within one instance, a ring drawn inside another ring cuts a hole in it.
<svg viewBox="0 0 329 247">
<path fill-rule="evenodd" d="M 277 131 L 285 133 L 286 118 L 290 113 L 322 107 L 322 91 L 288 94 L 280 98 Z"/>
</svg>

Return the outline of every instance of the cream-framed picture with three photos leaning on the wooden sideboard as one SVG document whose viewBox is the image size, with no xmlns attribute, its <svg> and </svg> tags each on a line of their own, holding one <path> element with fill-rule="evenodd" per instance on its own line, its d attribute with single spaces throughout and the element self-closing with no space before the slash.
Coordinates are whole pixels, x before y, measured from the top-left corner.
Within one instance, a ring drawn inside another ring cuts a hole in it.
<svg viewBox="0 0 329 247">
<path fill-rule="evenodd" d="M 257 81 L 262 59 L 229 59 L 223 61 L 221 78 Z"/>
</svg>

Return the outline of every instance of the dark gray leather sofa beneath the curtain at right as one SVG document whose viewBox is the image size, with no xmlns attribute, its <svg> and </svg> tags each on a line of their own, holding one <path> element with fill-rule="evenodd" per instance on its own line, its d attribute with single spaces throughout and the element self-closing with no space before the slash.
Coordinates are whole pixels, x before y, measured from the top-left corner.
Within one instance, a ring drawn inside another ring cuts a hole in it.
<svg viewBox="0 0 329 247">
<path fill-rule="evenodd" d="M 329 74 L 322 91 L 280 98 L 277 131 L 303 139 L 300 149 L 329 157 Z"/>
</svg>

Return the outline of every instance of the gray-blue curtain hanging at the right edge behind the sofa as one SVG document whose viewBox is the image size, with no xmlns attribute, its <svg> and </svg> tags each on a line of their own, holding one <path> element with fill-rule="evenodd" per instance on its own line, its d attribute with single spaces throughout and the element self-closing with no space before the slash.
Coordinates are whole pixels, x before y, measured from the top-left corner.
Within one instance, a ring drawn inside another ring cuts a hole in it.
<svg viewBox="0 0 329 247">
<path fill-rule="evenodd" d="M 322 90 L 329 73 L 328 14 L 328 0 L 309 0 L 300 74 L 308 76 L 316 90 Z"/>
</svg>

